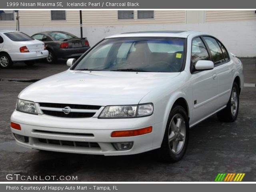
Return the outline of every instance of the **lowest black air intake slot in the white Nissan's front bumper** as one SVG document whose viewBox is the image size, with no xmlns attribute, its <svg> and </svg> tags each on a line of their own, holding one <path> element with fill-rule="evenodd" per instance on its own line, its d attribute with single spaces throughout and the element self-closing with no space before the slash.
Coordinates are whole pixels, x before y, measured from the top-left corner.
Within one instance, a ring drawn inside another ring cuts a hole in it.
<svg viewBox="0 0 256 192">
<path fill-rule="evenodd" d="M 41 143 L 54 144 L 59 146 L 100 148 L 99 144 L 96 142 L 64 141 L 64 140 L 54 140 L 54 139 L 42 139 L 42 138 L 38 138 L 38 141 Z"/>
</svg>

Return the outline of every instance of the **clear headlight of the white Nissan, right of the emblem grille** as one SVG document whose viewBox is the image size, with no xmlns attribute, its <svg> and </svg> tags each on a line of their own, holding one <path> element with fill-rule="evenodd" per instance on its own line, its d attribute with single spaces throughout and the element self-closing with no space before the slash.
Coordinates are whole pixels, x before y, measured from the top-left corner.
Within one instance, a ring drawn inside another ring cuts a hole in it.
<svg viewBox="0 0 256 192">
<path fill-rule="evenodd" d="M 106 106 L 99 118 L 135 118 L 149 116 L 153 113 L 153 104 Z"/>
</svg>

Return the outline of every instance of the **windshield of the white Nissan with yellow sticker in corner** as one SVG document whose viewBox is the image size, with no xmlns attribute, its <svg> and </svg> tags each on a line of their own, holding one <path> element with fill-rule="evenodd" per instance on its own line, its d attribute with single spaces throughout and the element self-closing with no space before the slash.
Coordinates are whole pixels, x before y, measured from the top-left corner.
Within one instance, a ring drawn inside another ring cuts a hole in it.
<svg viewBox="0 0 256 192">
<path fill-rule="evenodd" d="M 180 72 L 184 38 L 110 38 L 86 54 L 72 70 Z"/>
</svg>

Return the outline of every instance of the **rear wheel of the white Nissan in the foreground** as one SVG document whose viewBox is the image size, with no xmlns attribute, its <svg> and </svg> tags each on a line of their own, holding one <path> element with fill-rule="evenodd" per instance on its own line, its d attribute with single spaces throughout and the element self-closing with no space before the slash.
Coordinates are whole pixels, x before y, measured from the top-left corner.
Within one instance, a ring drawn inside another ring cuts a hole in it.
<svg viewBox="0 0 256 192">
<path fill-rule="evenodd" d="M 239 110 L 239 89 L 236 82 L 233 83 L 230 98 L 227 106 L 217 113 L 217 117 L 222 122 L 234 122 Z"/>
</svg>

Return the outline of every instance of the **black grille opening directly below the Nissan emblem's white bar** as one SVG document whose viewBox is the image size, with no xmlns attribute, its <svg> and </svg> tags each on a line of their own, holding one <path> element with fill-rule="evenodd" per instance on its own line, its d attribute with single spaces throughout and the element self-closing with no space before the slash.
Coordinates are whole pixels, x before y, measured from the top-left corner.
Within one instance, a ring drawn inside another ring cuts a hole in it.
<svg viewBox="0 0 256 192">
<path fill-rule="evenodd" d="M 46 115 L 56 116 L 56 117 L 66 117 L 66 118 L 88 118 L 94 116 L 95 113 L 80 113 L 80 112 L 70 112 L 69 114 L 64 114 L 61 111 L 48 111 L 42 110 Z"/>
</svg>

